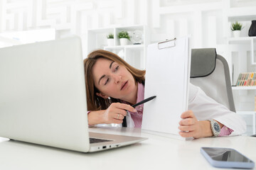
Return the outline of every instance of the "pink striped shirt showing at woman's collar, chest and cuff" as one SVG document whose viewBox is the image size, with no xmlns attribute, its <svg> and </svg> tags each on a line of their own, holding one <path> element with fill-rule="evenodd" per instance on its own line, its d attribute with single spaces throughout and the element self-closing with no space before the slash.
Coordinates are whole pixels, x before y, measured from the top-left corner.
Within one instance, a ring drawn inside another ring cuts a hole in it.
<svg viewBox="0 0 256 170">
<path fill-rule="evenodd" d="M 144 100 L 144 85 L 138 83 L 138 92 L 137 92 L 137 101 L 136 103 L 139 103 L 139 101 Z M 122 101 L 122 103 L 129 104 L 126 101 Z M 134 128 L 142 128 L 142 115 L 143 115 L 143 107 L 144 105 L 139 105 L 136 107 L 137 112 L 129 112 L 132 116 L 132 120 L 134 121 Z M 232 129 L 226 127 L 223 125 L 223 128 L 220 130 L 220 135 L 218 136 L 228 136 L 233 132 Z"/>
</svg>

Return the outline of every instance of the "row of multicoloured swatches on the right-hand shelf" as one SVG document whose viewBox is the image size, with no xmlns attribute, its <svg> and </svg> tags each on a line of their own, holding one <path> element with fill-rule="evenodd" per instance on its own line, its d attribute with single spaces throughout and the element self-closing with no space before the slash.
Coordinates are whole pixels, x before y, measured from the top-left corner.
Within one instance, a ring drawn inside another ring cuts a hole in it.
<svg viewBox="0 0 256 170">
<path fill-rule="evenodd" d="M 240 73 L 236 86 L 256 86 L 256 72 Z"/>
</svg>

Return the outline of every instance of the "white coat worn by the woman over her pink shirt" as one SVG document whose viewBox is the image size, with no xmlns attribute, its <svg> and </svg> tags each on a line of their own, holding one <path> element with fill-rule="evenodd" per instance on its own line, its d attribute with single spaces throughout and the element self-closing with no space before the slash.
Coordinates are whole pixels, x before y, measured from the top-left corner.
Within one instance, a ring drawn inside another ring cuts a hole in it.
<svg viewBox="0 0 256 170">
<path fill-rule="evenodd" d="M 217 120 L 234 130 L 230 136 L 241 135 L 246 131 L 245 120 L 240 115 L 228 110 L 222 104 L 214 101 L 213 98 L 206 96 L 200 87 L 193 84 L 189 84 L 188 87 L 188 110 L 193 111 L 198 120 Z M 127 113 L 127 127 L 134 128 L 134 122 L 129 112 Z"/>
</svg>

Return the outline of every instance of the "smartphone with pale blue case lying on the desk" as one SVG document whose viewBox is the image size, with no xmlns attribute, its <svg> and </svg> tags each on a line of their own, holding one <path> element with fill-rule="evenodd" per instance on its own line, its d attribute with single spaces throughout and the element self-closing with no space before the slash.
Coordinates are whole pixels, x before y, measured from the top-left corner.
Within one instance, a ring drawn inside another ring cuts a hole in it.
<svg viewBox="0 0 256 170">
<path fill-rule="evenodd" d="M 255 163 L 235 149 L 222 147 L 201 147 L 201 154 L 218 168 L 253 169 Z"/>
</svg>

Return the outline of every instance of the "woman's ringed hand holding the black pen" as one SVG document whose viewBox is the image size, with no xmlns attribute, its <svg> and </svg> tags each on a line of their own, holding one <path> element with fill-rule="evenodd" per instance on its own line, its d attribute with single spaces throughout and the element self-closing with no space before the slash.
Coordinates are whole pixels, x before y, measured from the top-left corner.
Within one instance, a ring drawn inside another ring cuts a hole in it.
<svg viewBox="0 0 256 170">
<path fill-rule="evenodd" d="M 136 109 L 124 103 L 112 103 L 107 110 L 92 111 L 88 113 L 89 125 L 96 124 L 110 124 L 123 122 L 124 116 L 127 115 L 127 111 L 136 112 Z"/>
</svg>

